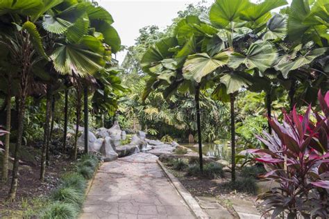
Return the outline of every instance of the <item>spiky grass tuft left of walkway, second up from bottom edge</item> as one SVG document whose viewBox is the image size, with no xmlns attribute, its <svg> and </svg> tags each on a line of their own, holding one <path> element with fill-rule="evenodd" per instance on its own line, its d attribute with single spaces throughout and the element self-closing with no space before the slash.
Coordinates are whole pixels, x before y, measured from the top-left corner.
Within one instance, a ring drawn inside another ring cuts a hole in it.
<svg viewBox="0 0 329 219">
<path fill-rule="evenodd" d="M 77 204 L 80 207 L 83 204 L 84 191 L 78 191 L 71 187 L 60 187 L 51 193 L 51 198 L 60 202 Z"/>
</svg>

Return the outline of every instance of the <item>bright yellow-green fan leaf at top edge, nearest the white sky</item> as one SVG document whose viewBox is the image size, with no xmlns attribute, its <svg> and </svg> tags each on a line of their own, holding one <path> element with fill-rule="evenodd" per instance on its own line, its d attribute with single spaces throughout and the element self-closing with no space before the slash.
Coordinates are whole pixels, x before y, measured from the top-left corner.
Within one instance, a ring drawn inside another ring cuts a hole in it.
<svg viewBox="0 0 329 219">
<path fill-rule="evenodd" d="M 248 6 L 247 0 L 217 0 L 210 8 L 210 21 L 215 26 L 226 28 L 230 22 L 239 21 L 242 10 Z"/>
</svg>

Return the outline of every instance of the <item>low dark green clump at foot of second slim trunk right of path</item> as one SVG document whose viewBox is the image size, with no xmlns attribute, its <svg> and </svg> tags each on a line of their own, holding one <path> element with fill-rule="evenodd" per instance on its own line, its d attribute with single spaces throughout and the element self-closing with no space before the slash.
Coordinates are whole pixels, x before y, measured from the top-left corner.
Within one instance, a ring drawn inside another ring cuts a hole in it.
<svg viewBox="0 0 329 219">
<path fill-rule="evenodd" d="M 244 177 L 235 180 L 235 182 L 226 182 L 223 183 L 222 186 L 230 190 L 236 190 L 242 193 L 251 193 L 253 195 L 257 194 L 258 191 L 258 186 L 253 177 Z"/>
</svg>

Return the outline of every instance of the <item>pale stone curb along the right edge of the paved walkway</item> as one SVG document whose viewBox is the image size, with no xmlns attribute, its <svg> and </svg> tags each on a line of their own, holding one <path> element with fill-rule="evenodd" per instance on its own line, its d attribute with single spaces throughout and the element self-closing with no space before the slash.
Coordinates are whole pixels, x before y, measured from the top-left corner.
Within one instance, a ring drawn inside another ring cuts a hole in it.
<svg viewBox="0 0 329 219">
<path fill-rule="evenodd" d="M 205 211 L 203 211 L 203 209 L 201 209 L 199 203 L 193 198 L 191 193 L 189 193 L 189 191 L 187 191 L 187 189 L 185 189 L 183 184 L 181 184 L 174 175 L 169 173 L 169 171 L 162 164 L 162 162 L 160 160 L 157 160 L 157 163 L 160 166 L 160 168 L 162 168 L 163 172 L 165 172 L 165 175 L 169 179 L 169 182 L 171 182 L 171 184 L 174 186 L 174 188 L 176 189 L 178 194 L 183 198 L 184 202 L 187 204 L 187 206 L 192 211 L 194 216 L 196 216 L 196 218 L 200 218 L 200 219 L 210 218 L 208 216 L 208 214 L 205 213 Z"/>
</svg>

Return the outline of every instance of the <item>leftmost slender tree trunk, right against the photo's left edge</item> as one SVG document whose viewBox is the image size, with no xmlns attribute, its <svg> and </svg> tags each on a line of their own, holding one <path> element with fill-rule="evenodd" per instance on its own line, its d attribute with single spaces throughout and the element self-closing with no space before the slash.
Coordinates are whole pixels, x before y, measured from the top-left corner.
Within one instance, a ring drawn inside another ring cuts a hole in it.
<svg viewBox="0 0 329 219">
<path fill-rule="evenodd" d="M 10 144 L 10 125 L 11 125 L 11 91 L 10 91 L 10 83 L 8 86 L 8 94 L 7 94 L 7 114 L 6 114 L 6 134 L 5 139 L 5 152 L 3 154 L 3 165 L 2 165 L 2 182 L 7 182 L 8 180 L 8 162 L 9 162 L 9 144 Z"/>
</svg>

